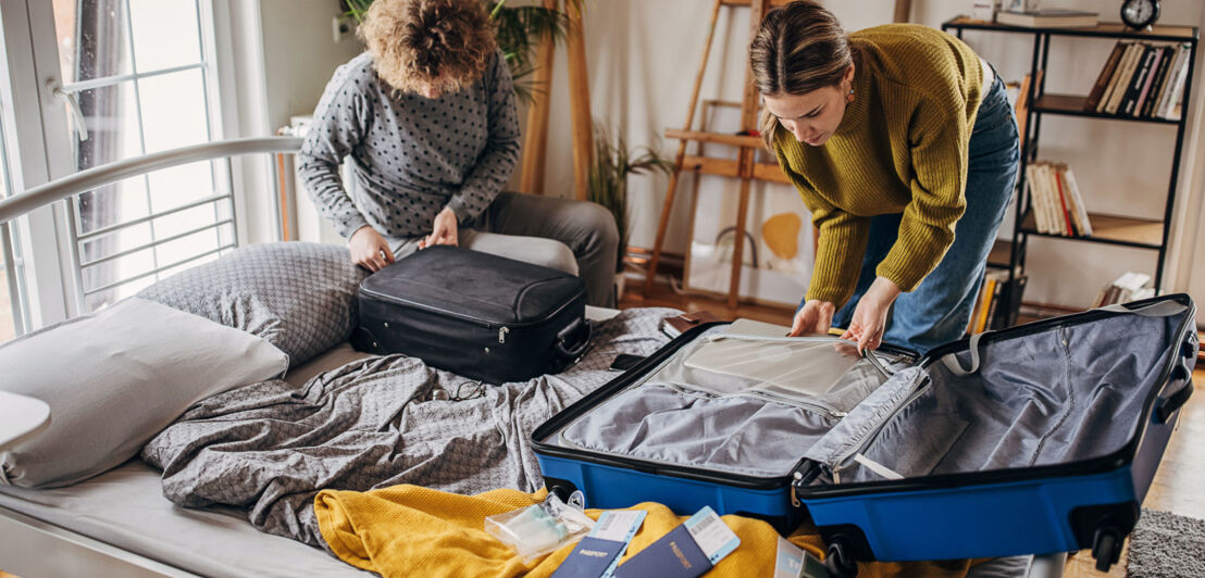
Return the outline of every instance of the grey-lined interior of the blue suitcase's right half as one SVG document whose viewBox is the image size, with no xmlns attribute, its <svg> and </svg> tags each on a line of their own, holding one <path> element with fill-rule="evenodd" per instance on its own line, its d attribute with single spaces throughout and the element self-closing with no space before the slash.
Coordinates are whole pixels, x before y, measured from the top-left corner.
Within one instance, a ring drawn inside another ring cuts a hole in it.
<svg viewBox="0 0 1205 578">
<path fill-rule="evenodd" d="M 1180 319 L 1118 315 L 992 341 L 977 371 L 928 366 L 929 383 L 859 452 L 829 464 L 840 480 L 1071 464 L 1121 450 L 1147 417 L 1144 402 L 1177 359 Z M 1141 340 L 1133 338 L 1141 335 Z M 969 355 L 959 354 L 960 364 Z"/>
</svg>

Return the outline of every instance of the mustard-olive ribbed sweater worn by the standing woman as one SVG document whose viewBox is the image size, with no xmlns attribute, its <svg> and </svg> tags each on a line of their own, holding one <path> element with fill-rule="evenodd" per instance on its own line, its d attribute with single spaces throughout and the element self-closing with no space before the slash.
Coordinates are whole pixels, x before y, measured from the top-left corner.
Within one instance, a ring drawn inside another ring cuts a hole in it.
<svg viewBox="0 0 1205 578">
<path fill-rule="evenodd" d="M 958 39 L 917 24 L 850 35 L 854 101 L 828 142 L 778 128 L 774 148 L 819 230 L 807 299 L 841 307 L 853 294 L 870 218 L 903 213 L 876 272 L 911 291 L 945 256 L 966 206 L 966 146 L 983 70 Z"/>
</svg>

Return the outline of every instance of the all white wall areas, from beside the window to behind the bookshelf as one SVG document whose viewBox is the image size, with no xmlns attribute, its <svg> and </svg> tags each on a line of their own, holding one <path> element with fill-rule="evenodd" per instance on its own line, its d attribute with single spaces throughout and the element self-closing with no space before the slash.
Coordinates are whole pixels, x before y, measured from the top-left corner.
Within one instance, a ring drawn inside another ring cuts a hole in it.
<svg viewBox="0 0 1205 578">
<path fill-rule="evenodd" d="M 311 112 L 335 66 L 355 55 L 354 39 L 335 43 L 330 18 L 335 0 L 260 0 L 263 29 L 265 112 L 243 134 L 268 134 L 293 114 Z M 659 143 L 672 155 L 677 142 L 660 138 L 666 128 L 681 128 L 686 102 L 705 40 L 710 1 L 704 0 L 593 0 L 587 2 L 587 61 L 593 116 L 619 131 L 633 147 Z M 829 7 L 848 30 L 890 20 L 893 0 L 829 0 Z M 972 0 L 915 0 L 912 22 L 939 26 L 969 12 Z M 1045 0 L 1045 6 L 1094 10 L 1103 20 L 1116 20 L 1119 2 L 1099 0 Z M 729 17 L 729 13 L 731 17 Z M 747 11 L 724 8 L 717 25 L 703 99 L 739 101 L 748 42 Z M 1205 5 L 1197 0 L 1165 0 L 1162 24 L 1201 25 Z M 1019 79 L 1029 70 L 1031 41 L 1022 35 L 966 33 L 965 40 L 1000 70 L 1006 79 Z M 1056 39 L 1051 43 L 1047 90 L 1087 93 L 1113 41 Z M 569 129 L 568 70 L 564 48 L 557 54 L 552 87 L 549 158 L 545 190 L 572 196 L 571 135 Z M 1198 104 L 1201 75 L 1197 73 Z M 1194 111 L 1199 117 L 1199 113 Z M 699 119 L 696 118 L 696 123 Z M 1195 273 L 1197 255 L 1205 258 L 1205 211 L 1199 190 L 1205 184 L 1205 147 L 1195 147 L 1199 129 L 1186 137 L 1181 190 L 1177 194 L 1172 248 L 1165 285 L 1187 289 L 1205 299 L 1205 273 Z M 1168 189 L 1175 129 L 1141 123 L 1062 118 L 1042 122 L 1041 157 L 1070 163 L 1089 196 L 1093 211 L 1140 217 L 1162 217 Z M 692 149 L 693 151 L 693 144 Z M 718 154 L 719 147 L 709 149 Z M 517 172 L 517 171 L 516 171 Z M 707 187 L 731 187 L 722 177 L 705 177 Z M 513 183 L 513 179 L 512 179 Z M 664 176 L 636 176 L 633 195 L 631 243 L 652 247 L 668 182 Z M 665 249 L 687 249 L 693 179 L 681 179 Z M 778 187 L 772 185 L 770 188 Z M 734 188 L 735 190 L 735 188 Z M 801 205 L 801 201 L 800 201 Z M 1201 217 L 1198 217 L 1201 216 Z M 1198 223 L 1198 220 L 1201 220 Z M 1011 218 L 1005 223 L 1011 232 Z M 1198 247 L 1200 247 L 1198 249 Z M 1030 284 L 1025 299 L 1072 307 L 1088 305 L 1099 287 L 1125 270 L 1154 272 L 1153 252 L 1111 246 L 1030 238 Z M 1200 267 L 1198 267 L 1200 269 Z"/>
</svg>

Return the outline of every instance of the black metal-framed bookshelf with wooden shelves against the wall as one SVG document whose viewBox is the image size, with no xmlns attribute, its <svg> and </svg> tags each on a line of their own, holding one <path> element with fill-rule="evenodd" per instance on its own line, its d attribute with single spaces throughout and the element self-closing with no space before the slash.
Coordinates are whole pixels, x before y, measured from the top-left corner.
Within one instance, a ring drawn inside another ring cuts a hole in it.
<svg viewBox="0 0 1205 578">
<path fill-rule="evenodd" d="M 1027 118 L 1018 118 L 1018 122 L 1023 120 L 1023 124 L 1021 125 L 1024 131 L 1021 140 L 1021 159 L 1027 165 L 1038 160 L 1044 116 L 1068 116 L 1083 117 L 1086 119 L 1147 123 L 1166 125 L 1169 126 L 1169 130 L 1175 129 L 1175 153 L 1171 158 L 1171 175 L 1169 178 L 1168 193 L 1163 199 L 1164 207 L 1162 220 L 1135 219 L 1113 214 L 1094 213 L 1089 211 L 1088 218 L 1092 222 L 1093 228 L 1093 234 L 1089 236 L 1065 236 L 1039 232 L 1029 189 L 1025 187 L 1025 171 L 1019 171 L 1019 175 L 1017 176 L 1017 190 L 1021 191 L 1021 196 L 1017 199 L 1015 206 L 1016 219 L 1012 231 L 1012 241 L 1006 246 L 998 244 L 993 249 L 992 258 L 989 259 L 989 265 L 998 267 L 1006 266 L 1009 271 L 1009 283 L 1004 288 L 1001 301 L 1004 303 L 1010 303 L 1010 306 L 1007 307 L 1009 311 L 1006 311 L 1005 315 L 1001 318 L 1003 325 L 1013 325 L 1017 322 L 1017 309 L 1019 308 L 1021 300 L 1012 299 L 1009 295 L 1009 291 L 1019 285 L 1017 283 L 1017 277 L 1024 273 L 1025 252 L 1028 249 L 1029 237 L 1031 236 L 1148 249 L 1157 255 L 1153 276 L 1154 287 L 1163 287 L 1163 269 L 1164 260 L 1168 254 L 1168 235 L 1170 232 L 1171 211 L 1175 206 L 1176 189 L 1180 184 L 1180 164 L 1183 153 L 1185 135 L 1188 129 L 1188 104 L 1192 96 L 1193 66 L 1197 60 L 1197 41 L 1199 37 L 1198 28 L 1157 25 L 1151 30 L 1138 31 L 1130 30 L 1121 23 L 1100 23 L 1091 28 L 1023 28 L 976 20 L 968 17 L 958 17 L 944 23 L 941 29 L 954 34 L 959 39 L 963 37 L 963 33 L 966 30 L 1023 34 L 1033 36 L 1029 77 L 1036 78 L 1038 81 L 1029 84 L 1028 94 L 1025 95 L 1028 102 L 1031 104 L 1025 112 Z M 1045 90 L 1047 75 L 1040 72 L 1044 72 L 1047 67 L 1051 39 L 1054 36 L 1135 40 L 1144 42 L 1175 42 L 1188 45 L 1188 72 L 1185 81 L 1182 99 L 1183 106 L 1181 107 L 1180 118 L 1168 119 L 1129 117 L 1086 111 L 1084 102 L 1087 101 L 1087 95 L 1047 94 Z M 984 58 L 988 58 L 988 55 L 984 55 Z M 1092 193 L 1084 191 L 1084 196 L 1091 199 Z"/>
</svg>

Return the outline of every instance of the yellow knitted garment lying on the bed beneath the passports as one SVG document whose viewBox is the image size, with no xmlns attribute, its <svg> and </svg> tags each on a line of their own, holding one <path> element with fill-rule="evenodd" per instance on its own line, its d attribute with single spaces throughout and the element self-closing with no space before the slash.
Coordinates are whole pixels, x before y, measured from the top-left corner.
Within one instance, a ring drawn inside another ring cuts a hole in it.
<svg viewBox="0 0 1205 578">
<path fill-rule="evenodd" d="M 543 490 L 536 494 L 493 490 L 462 496 L 404 484 L 366 493 L 322 490 L 315 497 L 313 512 L 322 538 L 340 560 L 386 578 L 547 578 L 569 556 L 576 542 L 539 561 L 524 564 L 483 527 L 487 515 L 531 506 L 546 495 Z M 643 502 L 633 508 L 648 512 L 648 517 L 628 547 L 624 561 L 686 520 L 658 503 Z M 601 511 L 586 513 L 598 519 Z M 724 521 L 741 538 L 741 545 L 721 560 L 707 577 L 772 576 L 778 533 L 769 524 L 752 518 L 725 515 Z M 801 526 L 789 539 L 816 556 L 824 555 L 824 543 L 811 525 Z M 966 576 L 966 570 L 980 561 L 859 562 L 858 576 L 958 578 Z"/>
</svg>

